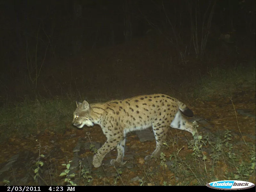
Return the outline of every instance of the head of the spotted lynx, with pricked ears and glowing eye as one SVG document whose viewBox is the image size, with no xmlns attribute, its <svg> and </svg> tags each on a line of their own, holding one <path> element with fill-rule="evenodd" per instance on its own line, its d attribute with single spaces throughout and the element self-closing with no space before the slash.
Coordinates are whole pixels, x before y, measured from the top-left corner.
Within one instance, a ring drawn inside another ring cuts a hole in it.
<svg viewBox="0 0 256 192">
<path fill-rule="evenodd" d="M 83 101 L 83 103 L 79 103 L 76 101 L 76 110 L 73 113 L 73 121 L 72 124 L 78 128 L 82 128 L 84 125 L 93 126 L 93 119 L 90 116 L 91 106 L 87 101 Z"/>
</svg>

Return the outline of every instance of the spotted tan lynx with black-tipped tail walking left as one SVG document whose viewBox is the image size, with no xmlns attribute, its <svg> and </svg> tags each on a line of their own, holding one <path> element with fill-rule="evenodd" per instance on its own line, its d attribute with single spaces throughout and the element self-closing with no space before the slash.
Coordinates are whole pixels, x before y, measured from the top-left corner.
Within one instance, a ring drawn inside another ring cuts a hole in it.
<svg viewBox="0 0 256 192">
<path fill-rule="evenodd" d="M 76 102 L 76 106 L 72 124 L 78 128 L 98 124 L 107 137 L 107 141 L 93 156 L 94 167 L 99 167 L 106 154 L 115 147 L 117 158 L 110 163 L 126 163 L 123 158 L 125 135 L 128 132 L 152 126 L 156 137 L 156 149 L 151 154 L 154 157 L 159 157 L 170 126 L 188 131 L 193 136 L 196 133 L 193 124 L 183 116 L 193 116 L 193 112 L 184 103 L 164 94 L 141 95 L 91 105 L 84 100 L 83 103 Z M 145 160 L 151 156 L 146 156 Z"/>
</svg>

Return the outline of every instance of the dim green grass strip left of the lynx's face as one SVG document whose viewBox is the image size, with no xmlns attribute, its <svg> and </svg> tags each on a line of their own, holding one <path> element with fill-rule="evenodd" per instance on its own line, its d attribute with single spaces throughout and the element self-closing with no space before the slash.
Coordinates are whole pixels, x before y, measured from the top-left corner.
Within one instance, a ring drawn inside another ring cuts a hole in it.
<svg viewBox="0 0 256 192">
<path fill-rule="evenodd" d="M 2 140 L 11 135 L 25 136 L 49 129 L 63 132 L 66 123 L 72 121 L 74 101 L 55 98 L 53 100 L 25 100 L 8 104 L 0 109 L 0 134 Z"/>
</svg>

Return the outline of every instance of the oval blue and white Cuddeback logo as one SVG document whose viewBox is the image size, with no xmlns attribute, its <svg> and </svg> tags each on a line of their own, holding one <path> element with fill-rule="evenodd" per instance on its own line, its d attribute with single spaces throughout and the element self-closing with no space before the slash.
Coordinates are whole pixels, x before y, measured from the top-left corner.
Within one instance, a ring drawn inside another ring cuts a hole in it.
<svg viewBox="0 0 256 192">
<path fill-rule="evenodd" d="M 211 183 L 208 183 L 206 186 L 214 189 L 237 190 L 237 189 L 252 188 L 255 185 L 247 181 L 224 180 L 224 181 L 213 181 Z"/>
</svg>

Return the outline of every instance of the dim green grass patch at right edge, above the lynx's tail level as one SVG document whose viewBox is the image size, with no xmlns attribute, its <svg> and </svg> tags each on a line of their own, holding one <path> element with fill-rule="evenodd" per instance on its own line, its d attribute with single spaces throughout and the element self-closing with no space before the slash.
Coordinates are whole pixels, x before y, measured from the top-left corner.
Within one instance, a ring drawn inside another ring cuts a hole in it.
<svg viewBox="0 0 256 192">
<path fill-rule="evenodd" d="M 233 92 L 246 87 L 255 91 L 255 74 L 255 60 L 249 62 L 246 67 L 241 64 L 236 68 L 226 70 L 213 68 L 208 71 L 208 75 L 198 80 L 194 96 L 209 100 L 212 97 L 231 97 Z"/>
</svg>

